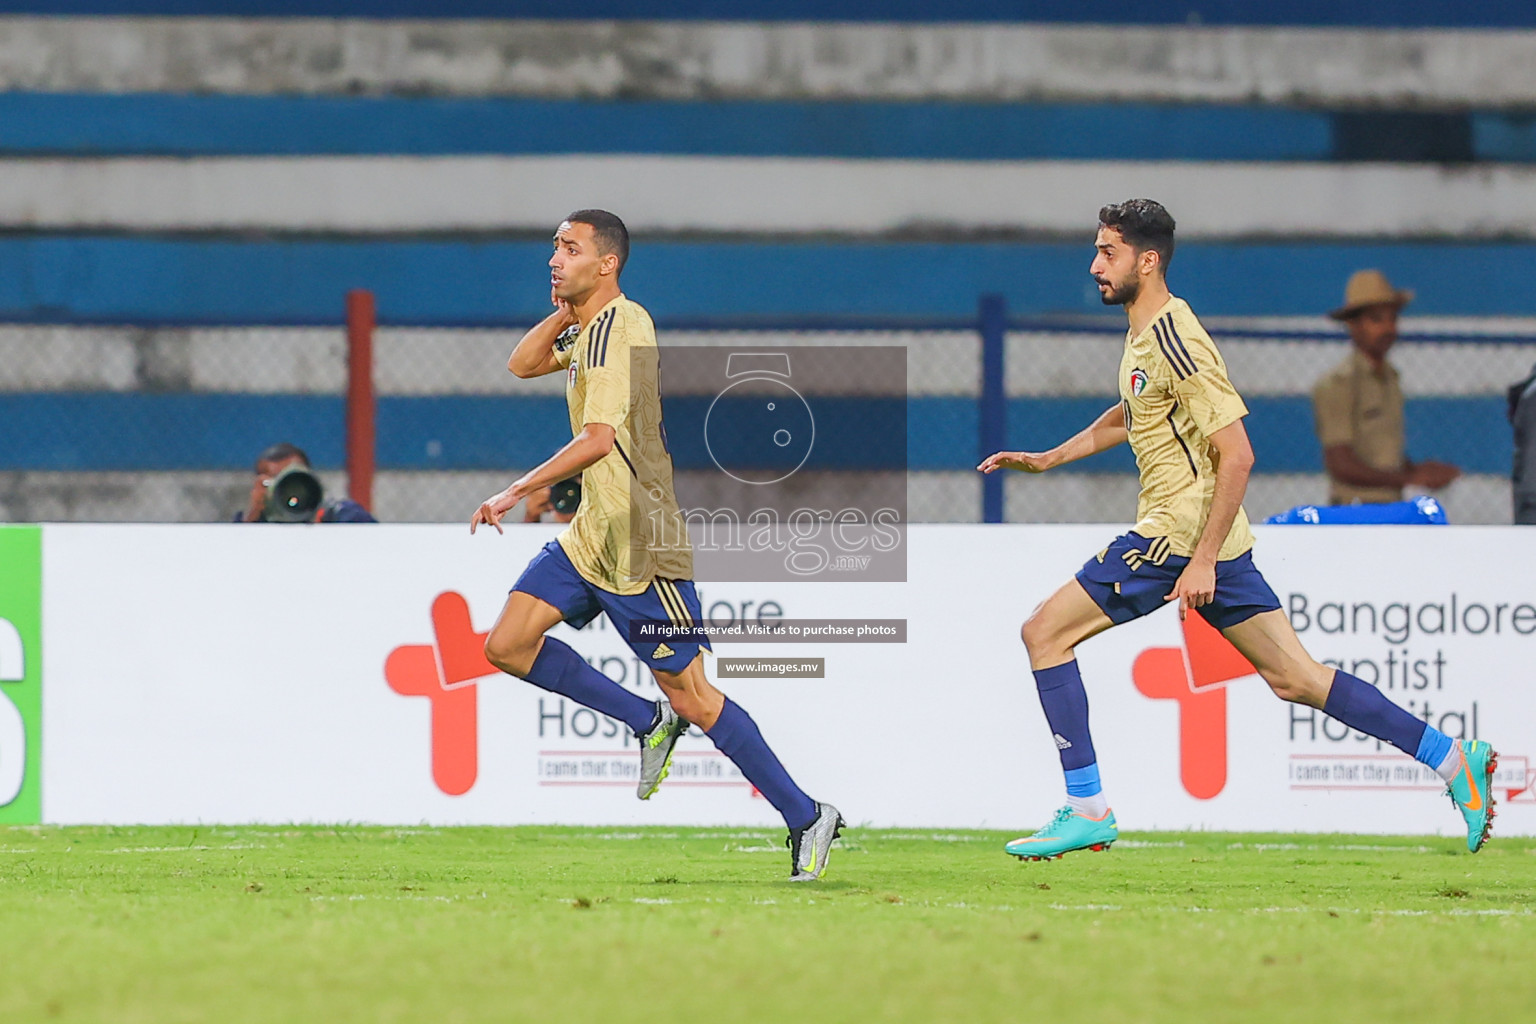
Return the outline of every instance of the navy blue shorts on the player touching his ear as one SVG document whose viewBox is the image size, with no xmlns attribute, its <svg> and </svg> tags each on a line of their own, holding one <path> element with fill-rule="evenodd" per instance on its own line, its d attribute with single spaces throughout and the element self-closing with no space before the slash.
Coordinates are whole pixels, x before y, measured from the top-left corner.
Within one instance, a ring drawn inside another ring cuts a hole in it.
<svg viewBox="0 0 1536 1024">
<path fill-rule="evenodd" d="M 571 565 L 561 542 L 550 540 L 542 551 L 533 556 L 528 568 L 522 570 L 522 576 L 518 577 L 511 590 L 553 605 L 565 622 L 578 629 L 607 613 L 608 622 L 630 645 L 630 649 L 639 654 L 645 665 L 664 672 L 680 672 L 693 663 L 693 659 L 699 657 L 700 649 L 711 649 L 708 640 L 687 636 L 664 640 L 630 639 L 630 623 L 633 622 L 662 622 L 677 626 L 702 625 L 703 613 L 693 580 L 657 577 L 639 594 L 614 594 L 588 583 Z"/>
</svg>

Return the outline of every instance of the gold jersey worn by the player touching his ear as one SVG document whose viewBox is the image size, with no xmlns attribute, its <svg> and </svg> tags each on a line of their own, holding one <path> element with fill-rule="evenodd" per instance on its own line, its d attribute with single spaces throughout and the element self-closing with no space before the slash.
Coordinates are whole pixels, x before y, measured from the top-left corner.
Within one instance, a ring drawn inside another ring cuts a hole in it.
<svg viewBox="0 0 1536 1024">
<path fill-rule="evenodd" d="M 671 454 L 662 427 L 656 325 L 639 302 L 619 296 L 556 348 L 565 367 L 571 434 L 613 427 L 613 451 L 582 473 L 581 505 L 561 547 L 587 582 L 639 594 L 657 576 L 693 577 L 693 547 L 677 513 Z"/>
</svg>

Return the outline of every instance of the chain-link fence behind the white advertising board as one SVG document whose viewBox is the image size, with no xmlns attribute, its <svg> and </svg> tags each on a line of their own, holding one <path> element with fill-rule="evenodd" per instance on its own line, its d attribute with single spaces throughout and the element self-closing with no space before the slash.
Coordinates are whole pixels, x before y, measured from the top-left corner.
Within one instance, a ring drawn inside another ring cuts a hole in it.
<svg viewBox="0 0 1536 1024">
<path fill-rule="evenodd" d="M 1210 321 L 1252 410 L 1255 519 L 1322 502 L 1309 393 L 1347 356 L 1327 321 Z M 906 350 L 908 516 L 980 522 L 983 336 L 978 327 L 660 324 L 665 361 L 690 347 Z M 373 339 L 382 522 L 464 522 L 488 494 L 570 438 L 564 376 L 505 368 L 521 327 L 381 327 Z M 1006 335 L 1006 447 L 1040 450 L 1114 404 L 1123 333 L 1014 324 Z M 1439 496 L 1452 522 L 1510 522 L 1504 393 L 1536 364 L 1536 321 L 1404 321 L 1392 353 L 1407 395 L 1409 451 L 1462 477 Z M 221 522 L 250 502 L 258 453 L 304 448 L 329 496 L 346 496 L 343 327 L 0 325 L 0 519 Z M 664 368 L 664 395 L 665 395 Z M 849 467 L 856 471 L 857 467 Z M 679 467 L 679 473 L 707 471 Z M 1134 517 L 1127 450 L 1044 476 L 1008 474 L 1012 522 Z M 521 513 L 515 513 L 518 517 Z"/>
</svg>

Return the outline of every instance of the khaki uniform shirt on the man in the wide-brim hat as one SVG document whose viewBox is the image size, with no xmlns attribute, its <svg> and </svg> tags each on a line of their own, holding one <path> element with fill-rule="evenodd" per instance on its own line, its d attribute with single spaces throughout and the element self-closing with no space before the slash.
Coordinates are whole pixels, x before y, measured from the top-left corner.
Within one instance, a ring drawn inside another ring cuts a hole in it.
<svg viewBox="0 0 1536 1024">
<path fill-rule="evenodd" d="M 1373 470 L 1402 470 L 1407 442 L 1402 433 L 1402 387 L 1398 372 L 1384 362 L 1378 375 L 1370 359 L 1350 355 L 1312 388 L 1312 411 L 1322 448 L 1347 444 Z M 1399 487 L 1355 487 L 1330 481 L 1329 504 L 1402 500 Z"/>
</svg>

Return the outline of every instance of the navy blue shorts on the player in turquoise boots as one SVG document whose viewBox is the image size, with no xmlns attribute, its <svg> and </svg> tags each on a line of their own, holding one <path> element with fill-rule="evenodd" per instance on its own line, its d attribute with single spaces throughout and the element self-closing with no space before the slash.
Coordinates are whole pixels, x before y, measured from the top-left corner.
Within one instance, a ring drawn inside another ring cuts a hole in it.
<svg viewBox="0 0 1536 1024">
<path fill-rule="evenodd" d="M 1127 533 L 1089 559 L 1078 570 L 1077 582 L 1118 626 L 1170 603 L 1164 599 L 1174 593 L 1186 565 L 1189 559 L 1169 553 L 1166 537 L 1149 540 L 1140 533 Z M 1253 568 L 1253 553 L 1244 551 L 1217 562 L 1215 597 L 1195 611 L 1217 629 L 1226 629 L 1276 608 L 1279 599 Z"/>
</svg>

